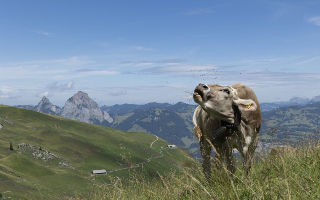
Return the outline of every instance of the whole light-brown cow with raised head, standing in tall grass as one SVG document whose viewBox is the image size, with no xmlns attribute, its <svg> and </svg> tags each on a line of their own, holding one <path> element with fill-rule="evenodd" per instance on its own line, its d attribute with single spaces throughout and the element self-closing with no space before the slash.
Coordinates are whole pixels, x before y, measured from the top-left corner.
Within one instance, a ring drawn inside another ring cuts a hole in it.
<svg viewBox="0 0 320 200">
<path fill-rule="evenodd" d="M 199 84 L 193 99 L 199 104 L 193 124 L 205 177 L 210 180 L 212 148 L 218 164 L 226 160 L 231 176 L 236 171 L 232 155 L 232 149 L 236 148 L 244 157 L 244 173 L 248 177 L 261 127 L 261 110 L 255 93 L 242 83 Z"/>
</svg>

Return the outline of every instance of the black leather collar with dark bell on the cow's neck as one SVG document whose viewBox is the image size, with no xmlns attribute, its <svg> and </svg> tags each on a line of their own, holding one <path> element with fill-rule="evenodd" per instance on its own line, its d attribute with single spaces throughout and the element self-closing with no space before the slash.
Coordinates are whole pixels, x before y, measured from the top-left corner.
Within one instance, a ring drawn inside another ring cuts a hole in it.
<svg viewBox="0 0 320 200">
<path fill-rule="evenodd" d="M 235 108 L 235 112 L 235 122 L 233 124 L 221 121 L 221 127 L 218 130 L 211 133 L 212 144 L 223 143 L 230 135 L 232 135 L 233 132 L 238 130 L 241 123 L 241 112 L 237 106 Z"/>
</svg>

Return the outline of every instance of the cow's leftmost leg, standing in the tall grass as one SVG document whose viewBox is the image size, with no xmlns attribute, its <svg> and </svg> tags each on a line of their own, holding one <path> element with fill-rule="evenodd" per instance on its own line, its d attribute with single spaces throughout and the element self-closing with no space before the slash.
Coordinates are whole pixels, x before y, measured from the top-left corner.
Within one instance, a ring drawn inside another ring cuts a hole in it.
<svg viewBox="0 0 320 200">
<path fill-rule="evenodd" d="M 204 172 L 204 176 L 207 180 L 210 180 L 211 176 L 211 161 L 210 161 L 210 153 L 211 146 L 209 142 L 206 140 L 205 136 L 202 136 L 200 139 L 200 151 L 202 156 L 202 168 Z"/>
</svg>

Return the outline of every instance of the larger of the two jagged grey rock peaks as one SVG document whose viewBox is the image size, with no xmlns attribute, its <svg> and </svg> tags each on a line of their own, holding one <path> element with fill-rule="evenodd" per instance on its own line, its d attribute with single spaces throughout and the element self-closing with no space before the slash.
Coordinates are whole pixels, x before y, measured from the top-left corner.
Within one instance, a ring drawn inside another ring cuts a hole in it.
<svg viewBox="0 0 320 200">
<path fill-rule="evenodd" d="M 104 124 L 113 121 L 107 112 L 102 113 L 99 105 L 82 91 L 67 100 L 60 116 L 90 124 Z"/>
</svg>

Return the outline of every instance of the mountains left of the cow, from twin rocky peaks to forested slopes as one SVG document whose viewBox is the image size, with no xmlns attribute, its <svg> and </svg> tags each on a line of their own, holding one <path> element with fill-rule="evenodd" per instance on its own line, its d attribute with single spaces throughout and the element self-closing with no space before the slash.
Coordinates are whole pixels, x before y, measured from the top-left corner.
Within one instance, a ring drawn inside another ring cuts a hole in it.
<svg viewBox="0 0 320 200">
<path fill-rule="evenodd" d="M 62 108 L 53 105 L 45 96 L 36 106 L 15 107 L 124 131 L 148 132 L 181 147 L 190 146 L 189 140 L 193 135 L 191 117 L 196 108 L 183 102 L 174 105 L 156 102 L 144 105 L 116 104 L 99 108 L 98 104 L 82 91 L 69 98 Z"/>
</svg>

